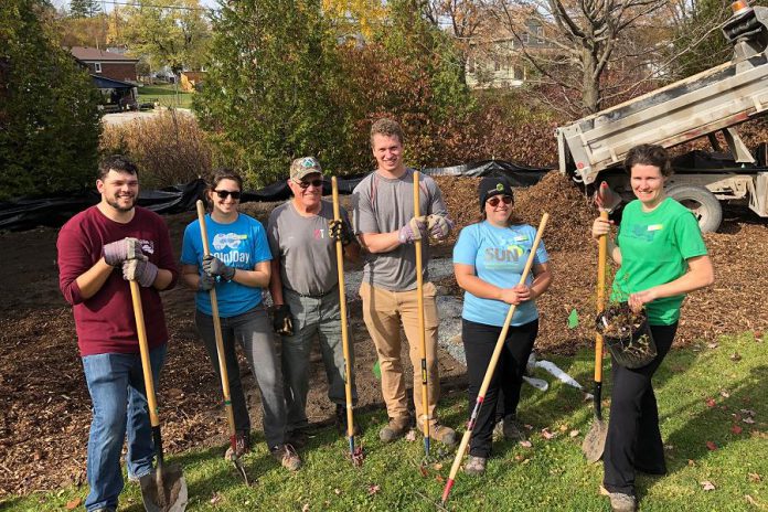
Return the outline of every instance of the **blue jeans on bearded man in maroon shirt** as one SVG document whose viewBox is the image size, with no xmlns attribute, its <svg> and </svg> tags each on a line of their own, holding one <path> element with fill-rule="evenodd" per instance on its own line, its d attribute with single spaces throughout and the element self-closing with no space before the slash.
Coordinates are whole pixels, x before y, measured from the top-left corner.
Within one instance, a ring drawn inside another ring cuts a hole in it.
<svg viewBox="0 0 768 512">
<path fill-rule="evenodd" d="M 167 345 L 149 353 L 157 388 Z M 139 354 L 95 354 L 83 358 L 85 381 L 93 402 L 88 436 L 88 511 L 113 506 L 122 491 L 120 455 L 128 434 L 128 474 L 143 477 L 152 470 L 154 444 L 149 422 L 141 356 Z"/>
</svg>

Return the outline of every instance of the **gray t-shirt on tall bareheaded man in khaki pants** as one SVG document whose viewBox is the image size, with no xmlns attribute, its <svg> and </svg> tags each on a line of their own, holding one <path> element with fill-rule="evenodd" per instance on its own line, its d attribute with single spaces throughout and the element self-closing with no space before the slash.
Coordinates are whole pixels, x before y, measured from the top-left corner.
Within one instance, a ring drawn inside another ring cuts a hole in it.
<svg viewBox="0 0 768 512">
<path fill-rule="evenodd" d="M 419 178 L 419 213 L 448 215 L 442 192 L 428 175 Z M 414 216 L 414 170 L 392 180 L 376 171 L 366 175 L 352 191 L 354 233 L 390 233 Z M 422 244 L 424 280 L 428 279 L 429 239 Z M 363 281 L 391 291 L 416 288 L 416 250 L 403 244 L 388 253 L 365 254 Z"/>
</svg>

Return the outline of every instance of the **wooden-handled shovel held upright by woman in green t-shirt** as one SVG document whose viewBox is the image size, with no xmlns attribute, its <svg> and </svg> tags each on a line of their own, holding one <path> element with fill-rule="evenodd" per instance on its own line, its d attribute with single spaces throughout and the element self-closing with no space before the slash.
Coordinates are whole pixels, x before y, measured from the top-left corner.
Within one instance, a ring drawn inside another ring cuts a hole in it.
<svg viewBox="0 0 768 512">
<path fill-rule="evenodd" d="M 600 209 L 600 218 L 607 221 L 608 213 L 620 203 L 620 198 L 616 196 L 608 183 L 600 183 L 596 202 Z M 597 253 L 597 314 L 600 314 L 606 307 L 606 259 L 608 257 L 608 236 L 602 235 L 598 242 Z M 595 334 L 595 391 L 594 406 L 595 420 L 589 431 L 582 442 L 582 451 L 588 462 L 597 462 L 602 457 L 606 448 L 606 437 L 608 436 L 608 425 L 602 420 L 602 334 Z"/>
</svg>

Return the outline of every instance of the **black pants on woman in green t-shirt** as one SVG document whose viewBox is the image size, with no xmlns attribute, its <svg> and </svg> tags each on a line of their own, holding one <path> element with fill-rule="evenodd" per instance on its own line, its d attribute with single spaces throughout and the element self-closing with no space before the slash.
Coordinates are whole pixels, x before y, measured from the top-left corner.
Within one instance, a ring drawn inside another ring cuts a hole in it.
<svg viewBox="0 0 768 512">
<path fill-rule="evenodd" d="M 614 390 L 602 455 L 602 484 L 610 492 L 633 495 L 636 470 L 651 474 L 666 472 L 651 377 L 672 346 L 676 330 L 676 323 L 651 326 L 659 355 L 643 367 L 628 370 L 611 358 Z"/>
</svg>

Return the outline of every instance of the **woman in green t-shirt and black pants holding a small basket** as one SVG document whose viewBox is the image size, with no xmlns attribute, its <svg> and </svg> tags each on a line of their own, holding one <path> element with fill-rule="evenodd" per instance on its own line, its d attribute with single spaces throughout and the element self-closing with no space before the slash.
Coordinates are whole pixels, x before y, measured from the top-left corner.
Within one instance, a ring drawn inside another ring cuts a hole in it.
<svg viewBox="0 0 768 512">
<path fill-rule="evenodd" d="M 593 238 L 608 235 L 608 254 L 619 265 L 612 298 L 646 308 L 658 355 L 629 370 L 611 358 L 614 388 L 604 452 L 604 491 L 614 511 L 637 510 L 634 473 L 666 473 L 659 412 L 651 377 L 670 350 L 685 294 L 714 280 L 696 218 L 664 193 L 672 169 L 661 146 L 641 145 L 627 153 L 625 169 L 637 196 L 625 207 L 614 241 L 611 223 L 596 218 Z"/>
</svg>

